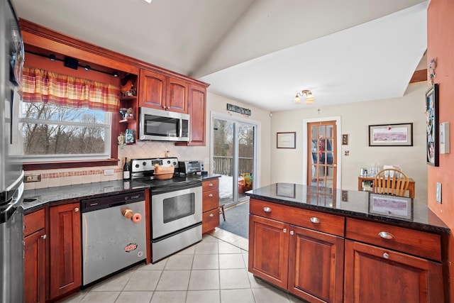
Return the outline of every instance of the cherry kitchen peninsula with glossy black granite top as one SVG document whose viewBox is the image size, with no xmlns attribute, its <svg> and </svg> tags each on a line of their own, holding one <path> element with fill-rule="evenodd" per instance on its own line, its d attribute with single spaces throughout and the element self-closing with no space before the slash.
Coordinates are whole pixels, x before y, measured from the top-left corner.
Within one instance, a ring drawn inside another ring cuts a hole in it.
<svg viewBox="0 0 454 303">
<path fill-rule="evenodd" d="M 309 302 L 448 302 L 450 229 L 424 201 L 290 183 L 245 194 L 253 275 Z"/>
</svg>

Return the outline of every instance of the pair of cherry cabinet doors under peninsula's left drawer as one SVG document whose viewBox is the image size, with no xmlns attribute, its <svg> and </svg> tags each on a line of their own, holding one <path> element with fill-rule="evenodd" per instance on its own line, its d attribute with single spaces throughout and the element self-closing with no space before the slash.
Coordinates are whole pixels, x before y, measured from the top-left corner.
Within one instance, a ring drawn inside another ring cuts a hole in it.
<svg viewBox="0 0 454 303">
<path fill-rule="evenodd" d="M 343 238 L 250 215 L 249 271 L 309 302 L 342 302 Z"/>
</svg>

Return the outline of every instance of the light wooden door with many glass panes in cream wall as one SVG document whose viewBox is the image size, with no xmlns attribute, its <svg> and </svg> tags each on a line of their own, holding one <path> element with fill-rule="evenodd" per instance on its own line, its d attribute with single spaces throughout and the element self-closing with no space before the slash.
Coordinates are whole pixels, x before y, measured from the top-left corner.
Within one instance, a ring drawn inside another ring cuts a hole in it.
<svg viewBox="0 0 454 303">
<path fill-rule="evenodd" d="M 340 121 L 340 117 L 303 121 L 306 134 L 303 184 L 332 189 L 341 187 Z"/>
</svg>

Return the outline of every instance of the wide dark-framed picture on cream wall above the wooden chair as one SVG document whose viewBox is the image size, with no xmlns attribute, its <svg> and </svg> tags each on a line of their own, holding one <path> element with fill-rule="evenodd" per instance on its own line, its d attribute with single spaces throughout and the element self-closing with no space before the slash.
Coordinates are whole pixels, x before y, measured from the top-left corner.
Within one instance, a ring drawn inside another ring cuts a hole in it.
<svg viewBox="0 0 454 303">
<path fill-rule="evenodd" d="M 413 146 L 413 123 L 370 125 L 369 146 Z"/>
</svg>

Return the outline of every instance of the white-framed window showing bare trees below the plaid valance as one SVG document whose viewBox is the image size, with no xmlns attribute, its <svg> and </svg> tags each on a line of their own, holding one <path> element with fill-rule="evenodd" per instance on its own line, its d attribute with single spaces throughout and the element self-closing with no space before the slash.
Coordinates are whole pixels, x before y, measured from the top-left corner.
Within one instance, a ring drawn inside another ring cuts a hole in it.
<svg viewBox="0 0 454 303">
<path fill-rule="evenodd" d="M 106 111 L 23 102 L 24 162 L 111 158 L 111 114 Z"/>
</svg>

